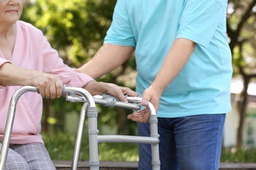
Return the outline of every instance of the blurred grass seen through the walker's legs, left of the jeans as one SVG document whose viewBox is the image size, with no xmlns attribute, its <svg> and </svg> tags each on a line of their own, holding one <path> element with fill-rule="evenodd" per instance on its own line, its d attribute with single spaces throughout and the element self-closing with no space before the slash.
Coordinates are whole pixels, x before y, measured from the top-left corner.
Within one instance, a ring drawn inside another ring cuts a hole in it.
<svg viewBox="0 0 256 170">
<path fill-rule="evenodd" d="M 85 129 L 79 160 L 89 161 L 88 131 Z M 52 160 L 72 160 L 75 136 L 58 133 L 42 133 L 45 146 Z M 100 161 L 138 161 L 138 145 L 133 143 L 99 143 L 98 159 Z"/>
</svg>

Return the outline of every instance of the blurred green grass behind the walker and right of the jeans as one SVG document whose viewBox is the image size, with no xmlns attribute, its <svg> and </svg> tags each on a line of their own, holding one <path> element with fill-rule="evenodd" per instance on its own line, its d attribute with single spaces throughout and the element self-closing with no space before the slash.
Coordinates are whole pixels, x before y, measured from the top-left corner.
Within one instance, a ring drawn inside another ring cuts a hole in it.
<svg viewBox="0 0 256 170">
<path fill-rule="evenodd" d="M 68 133 L 42 133 L 45 146 L 52 160 L 72 160 L 75 135 Z M 100 143 L 98 158 L 100 161 L 138 161 L 138 146 L 130 143 Z M 83 135 L 80 160 L 89 160 L 88 135 Z M 256 162 L 256 148 L 234 150 L 223 148 L 221 162 Z"/>
</svg>

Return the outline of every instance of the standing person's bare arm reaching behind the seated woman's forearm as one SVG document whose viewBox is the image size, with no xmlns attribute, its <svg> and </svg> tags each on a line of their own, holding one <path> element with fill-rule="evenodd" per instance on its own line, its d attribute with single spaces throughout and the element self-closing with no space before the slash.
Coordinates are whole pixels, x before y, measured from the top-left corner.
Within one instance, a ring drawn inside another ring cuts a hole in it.
<svg viewBox="0 0 256 170">
<path fill-rule="evenodd" d="M 78 71 L 95 79 L 99 78 L 121 66 L 131 56 L 133 49 L 133 46 L 104 44 L 95 56 L 81 66 Z"/>
</svg>

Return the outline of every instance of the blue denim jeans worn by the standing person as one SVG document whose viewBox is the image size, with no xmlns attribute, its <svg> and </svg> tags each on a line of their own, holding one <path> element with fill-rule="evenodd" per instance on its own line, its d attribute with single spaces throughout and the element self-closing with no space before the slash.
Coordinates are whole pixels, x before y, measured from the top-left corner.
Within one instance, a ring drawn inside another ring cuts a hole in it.
<svg viewBox="0 0 256 170">
<path fill-rule="evenodd" d="M 226 114 L 158 118 L 161 169 L 219 169 L 225 118 Z M 138 134 L 149 136 L 149 124 L 138 124 Z M 152 169 L 150 144 L 139 144 L 138 169 Z"/>
</svg>

